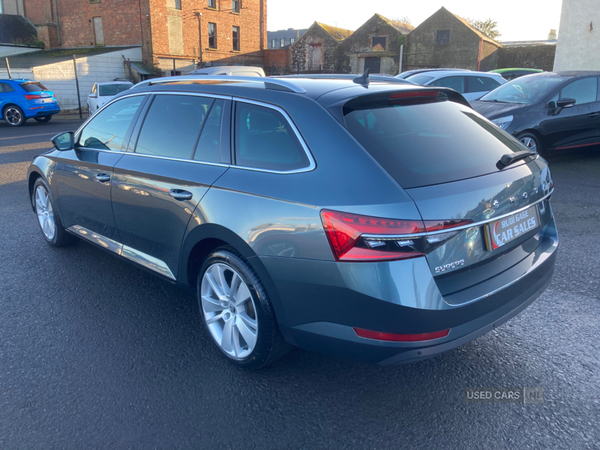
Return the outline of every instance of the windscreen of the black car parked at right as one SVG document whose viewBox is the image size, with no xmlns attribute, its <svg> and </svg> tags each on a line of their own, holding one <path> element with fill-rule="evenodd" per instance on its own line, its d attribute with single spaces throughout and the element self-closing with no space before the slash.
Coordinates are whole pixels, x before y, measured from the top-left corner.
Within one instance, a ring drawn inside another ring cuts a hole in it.
<svg viewBox="0 0 600 450">
<path fill-rule="evenodd" d="M 533 104 L 550 94 L 564 81 L 561 77 L 531 75 L 519 77 L 494 89 L 479 100 L 483 102 Z"/>
</svg>

